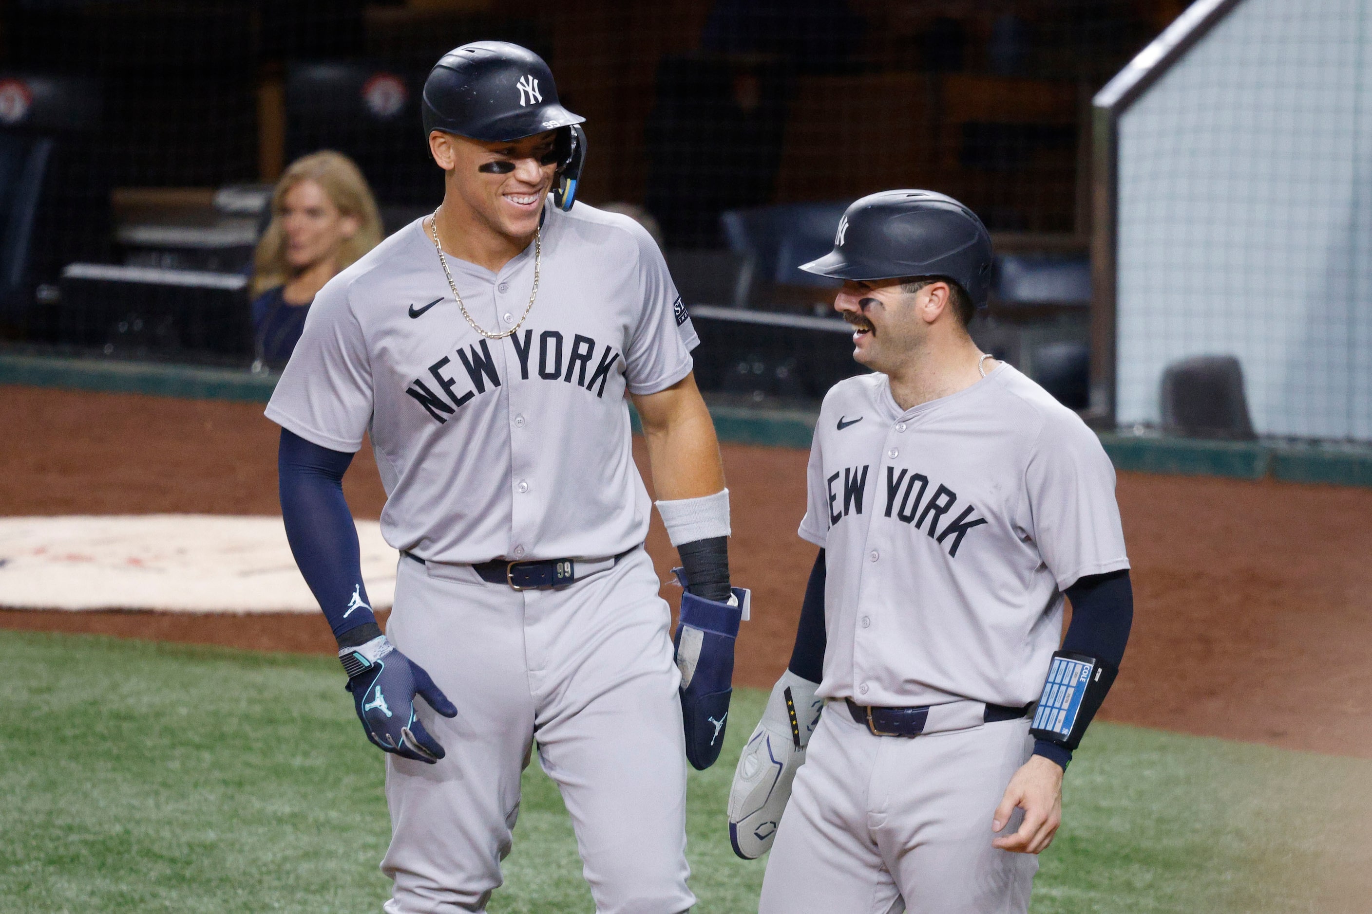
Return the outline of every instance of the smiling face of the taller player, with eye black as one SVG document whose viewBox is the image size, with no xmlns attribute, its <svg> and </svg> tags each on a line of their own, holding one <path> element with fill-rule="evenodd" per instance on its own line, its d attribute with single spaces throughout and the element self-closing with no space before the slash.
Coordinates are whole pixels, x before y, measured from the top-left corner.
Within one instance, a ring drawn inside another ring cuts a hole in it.
<svg viewBox="0 0 1372 914">
<path fill-rule="evenodd" d="M 429 149 L 447 171 L 449 197 L 490 230 L 528 238 L 557 177 L 556 138 L 557 132 L 547 130 L 509 143 L 484 143 L 435 130 Z"/>
</svg>

